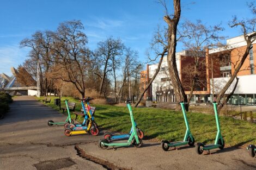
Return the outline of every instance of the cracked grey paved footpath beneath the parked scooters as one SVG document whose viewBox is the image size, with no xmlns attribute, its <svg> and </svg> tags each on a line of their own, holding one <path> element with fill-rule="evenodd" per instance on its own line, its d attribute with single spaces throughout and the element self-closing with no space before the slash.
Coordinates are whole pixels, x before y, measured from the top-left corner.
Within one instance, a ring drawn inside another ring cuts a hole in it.
<svg viewBox="0 0 256 170">
<path fill-rule="evenodd" d="M 48 119 L 65 117 L 33 97 L 16 97 L 10 106 L 0 120 L 0 169 L 256 169 L 256 158 L 239 148 L 198 155 L 188 147 L 164 152 L 144 140 L 142 148 L 101 150 L 102 136 L 66 137 L 63 126 L 48 127 Z"/>
</svg>

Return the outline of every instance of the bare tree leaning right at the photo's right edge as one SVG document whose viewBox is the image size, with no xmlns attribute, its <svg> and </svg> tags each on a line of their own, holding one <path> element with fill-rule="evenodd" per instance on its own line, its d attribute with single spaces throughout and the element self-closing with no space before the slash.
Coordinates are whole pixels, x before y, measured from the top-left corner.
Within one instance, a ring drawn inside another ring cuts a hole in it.
<svg viewBox="0 0 256 170">
<path fill-rule="evenodd" d="M 216 102 L 220 103 L 222 100 L 222 103 L 225 102 L 226 100 L 229 100 L 230 95 L 227 96 L 227 98 L 223 99 L 223 97 L 225 96 L 225 92 L 228 90 L 228 88 L 230 87 L 230 85 L 233 83 L 234 79 L 237 76 L 237 73 L 240 71 L 243 63 L 245 62 L 250 49 L 252 48 L 252 43 L 255 41 L 255 36 L 256 36 L 256 32 L 255 32 L 255 24 L 256 24 L 256 8 L 254 3 L 250 3 L 248 4 L 249 8 L 252 11 L 253 14 L 253 18 L 251 19 L 246 19 L 246 20 L 238 20 L 236 16 L 233 17 L 233 20 L 230 22 L 230 27 L 241 27 L 242 28 L 242 33 L 243 33 L 243 37 L 245 39 L 246 42 L 246 48 L 243 51 L 241 60 L 239 62 L 237 62 L 237 65 L 235 67 L 235 71 L 234 73 L 231 75 L 230 79 L 228 80 L 228 82 L 225 84 L 225 86 L 223 87 L 223 89 L 220 91 L 220 93 L 217 96 Z M 228 98 L 229 97 L 229 98 Z M 218 110 L 221 110 L 223 107 L 223 104 L 218 105 Z"/>
</svg>

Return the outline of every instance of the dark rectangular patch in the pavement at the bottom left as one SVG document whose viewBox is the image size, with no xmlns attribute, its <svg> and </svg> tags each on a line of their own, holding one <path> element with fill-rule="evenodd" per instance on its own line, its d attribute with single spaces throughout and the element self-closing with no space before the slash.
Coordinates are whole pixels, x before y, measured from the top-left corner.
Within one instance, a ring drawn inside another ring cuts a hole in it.
<svg viewBox="0 0 256 170">
<path fill-rule="evenodd" d="M 75 165 L 76 163 L 70 158 L 62 158 L 56 160 L 48 160 L 34 164 L 38 170 L 55 170 Z"/>
</svg>

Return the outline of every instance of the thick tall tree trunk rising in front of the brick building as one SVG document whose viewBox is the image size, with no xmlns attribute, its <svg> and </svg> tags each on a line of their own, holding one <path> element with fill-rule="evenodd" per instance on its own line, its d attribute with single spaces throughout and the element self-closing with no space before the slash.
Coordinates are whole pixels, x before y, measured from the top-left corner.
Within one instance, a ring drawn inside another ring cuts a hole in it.
<svg viewBox="0 0 256 170">
<path fill-rule="evenodd" d="M 173 0 L 174 5 L 174 15 L 173 18 L 170 18 L 168 15 L 164 16 L 163 19 L 168 24 L 168 54 L 167 54 L 167 62 L 168 62 L 168 70 L 170 73 L 170 80 L 172 81 L 172 86 L 175 93 L 176 102 L 185 102 L 187 103 L 187 96 L 182 87 L 177 65 L 176 65 L 176 33 L 177 26 L 180 20 L 181 8 L 180 8 L 180 0 Z M 176 105 L 176 110 L 181 110 L 179 104 Z M 186 105 L 186 110 L 188 110 L 188 105 Z"/>
</svg>

